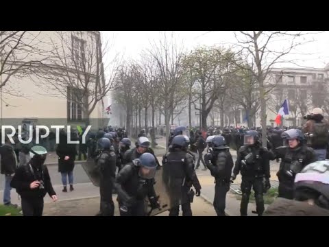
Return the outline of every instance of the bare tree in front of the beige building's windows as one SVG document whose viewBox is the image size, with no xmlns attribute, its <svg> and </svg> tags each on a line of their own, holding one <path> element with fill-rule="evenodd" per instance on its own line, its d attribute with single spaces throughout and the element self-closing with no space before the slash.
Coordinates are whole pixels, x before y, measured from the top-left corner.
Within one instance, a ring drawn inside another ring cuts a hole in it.
<svg viewBox="0 0 329 247">
<path fill-rule="evenodd" d="M 103 58 L 110 51 L 109 44 L 101 43 L 100 32 L 56 32 L 51 37 L 53 51 L 49 60 L 38 68 L 37 77 L 46 80 L 39 84 L 52 96 L 65 97 L 80 107 L 83 119 L 89 123 L 97 103 L 114 88 L 117 75 L 117 56 L 104 65 Z M 108 67 L 113 66 L 111 69 Z M 110 71 L 105 78 L 104 71 Z M 56 92 L 56 93 L 53 93 Z"/>
</svg>

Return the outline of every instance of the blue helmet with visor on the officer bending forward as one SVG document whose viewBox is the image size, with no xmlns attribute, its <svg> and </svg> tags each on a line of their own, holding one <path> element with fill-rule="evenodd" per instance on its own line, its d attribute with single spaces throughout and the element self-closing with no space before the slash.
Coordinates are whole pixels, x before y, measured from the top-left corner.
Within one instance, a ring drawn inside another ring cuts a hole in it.
<svg viewBox="0 0 329 247">
<path fill-rule="evenodd" d="M 156 158 L 153 154 L 144 153 L 139 158 L 132 161 L 134 165 L 138 167 L 143 167 L 144 169 L 139 169 L 139 176 L 145 179 L 154 178 L 156 175 Z"/>
</svg>

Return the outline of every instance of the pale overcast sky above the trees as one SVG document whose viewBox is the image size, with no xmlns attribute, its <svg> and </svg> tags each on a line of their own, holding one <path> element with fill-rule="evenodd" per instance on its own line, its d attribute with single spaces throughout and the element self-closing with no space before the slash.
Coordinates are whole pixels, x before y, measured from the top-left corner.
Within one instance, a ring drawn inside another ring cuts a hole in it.
<svg viewBox="0 0 329 247">
<path fill-rule="evenodd" d="M 114 40 L 114 51 L 124 54 L 126 59 L 138 59 L 138 54 L 149 47 L 149 40 L 159 38 L 160 31 L 102 31 L 102 34 L 106 39 Z M 197 45 L 228 46 L 228 43 L 236 41 L 232 31 L 175 31 L 175 34 L 184 40 L 184 46 L 187 50 L 191 50 Z M 315 41 L 298 48 L 300 52 L 307 55 L 293 54 L 289 59 L 298 59 L 298 64 L 304 67 L 323 68 L 329 63 L 329 32 L 309 34 L 307 39 L 310 40 L 310 38 L 315 39 Z M 282 45 L 284 45 L 284 40 L 273 45 L 273 49 L 280 49 Z M 107 59 L 110 59 L 110 56 L 112 53 Z M 296 67 L 293 64 L 280 64 L 277 67 L 280 66 Z"/>
</svg>

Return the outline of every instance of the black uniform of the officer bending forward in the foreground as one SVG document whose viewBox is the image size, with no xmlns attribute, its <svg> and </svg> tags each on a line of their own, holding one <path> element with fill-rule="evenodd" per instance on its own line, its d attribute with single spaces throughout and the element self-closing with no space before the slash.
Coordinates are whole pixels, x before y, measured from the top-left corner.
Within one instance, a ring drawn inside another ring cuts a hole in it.
<svg viewBox="0 0 329 247">
<path fill-rule="evenodd" d="M 118 193 L 120 216 L 145 216 L 147 208 L 145 198 L 148 197 L 150 202 L 156 198 L 154 179 L 141 178 L 138 170 L 139 167 L 128 163 L 117 174 L 115 187 Z"/>
</svg>

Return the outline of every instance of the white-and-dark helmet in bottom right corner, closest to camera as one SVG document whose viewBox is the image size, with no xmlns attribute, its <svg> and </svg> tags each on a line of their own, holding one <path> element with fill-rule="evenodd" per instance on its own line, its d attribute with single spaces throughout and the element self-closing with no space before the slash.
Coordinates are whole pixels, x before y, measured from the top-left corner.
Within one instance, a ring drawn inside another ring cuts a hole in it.
<svg viewBox="0 0 329 247">
<path fill-rule="evenodd" d="M 315 203 L 329 209 L 329 161 L 316 161 L 295 176 L 295 193 L 308 189 L 316 195 Z"/>
</svg>

